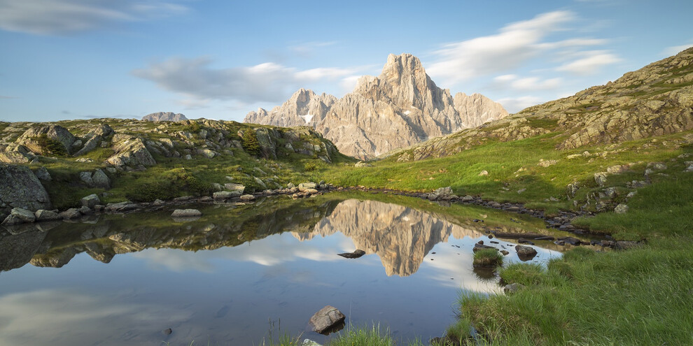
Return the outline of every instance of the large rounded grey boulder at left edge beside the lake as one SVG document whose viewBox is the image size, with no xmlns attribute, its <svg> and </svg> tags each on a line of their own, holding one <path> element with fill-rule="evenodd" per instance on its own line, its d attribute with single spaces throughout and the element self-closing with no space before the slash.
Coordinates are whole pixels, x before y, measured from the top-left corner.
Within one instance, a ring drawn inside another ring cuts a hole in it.
<svg viewBox="0 0 693 346">
<path fill-rule="evenodd" d="M 0 213 L 10 208 L 51 208 L 48 192 L 27 166 L 0 164 Z"/>
</svg>

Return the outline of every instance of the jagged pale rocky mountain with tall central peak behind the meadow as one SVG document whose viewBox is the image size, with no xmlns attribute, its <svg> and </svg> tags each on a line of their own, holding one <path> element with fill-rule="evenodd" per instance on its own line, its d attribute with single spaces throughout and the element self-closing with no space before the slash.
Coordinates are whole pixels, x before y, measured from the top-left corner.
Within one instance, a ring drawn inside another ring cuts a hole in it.
<svg viewBox="0 0 693 346">
<path fill-rule="evenodd" d="M 418 58 L 402 54 L 389 55 L 379 76 L 361 77 L 342 99 L 300 89 L 269 112 L 248 113 L 244 122 L 313 127 L 340 152 L 369 159 L 505 116 L 503 106 L 481 94 L 451 96 Z"/>
</svg>

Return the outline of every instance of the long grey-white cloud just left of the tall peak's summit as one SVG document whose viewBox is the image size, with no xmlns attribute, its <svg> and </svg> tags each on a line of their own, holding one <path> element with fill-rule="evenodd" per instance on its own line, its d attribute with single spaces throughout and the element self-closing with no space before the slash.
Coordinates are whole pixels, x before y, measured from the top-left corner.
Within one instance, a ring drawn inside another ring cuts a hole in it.
<svg viewBox="0 0 693 346">
<path fill-rule="evenodd" d="M 297 69 L 267 62 L 249 67 L 214 69 L 211 59 L 172 58 L 155 62 L 132 75 L 155 82 L 162 89 L 190 99 L 227 100 L 242 103 L 281 102 L 307 82 L 339 80 L 356 69 Z"/>
</svg>

